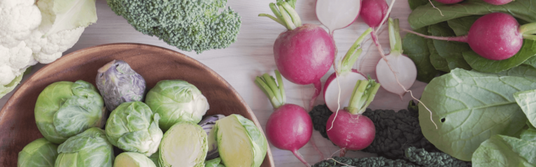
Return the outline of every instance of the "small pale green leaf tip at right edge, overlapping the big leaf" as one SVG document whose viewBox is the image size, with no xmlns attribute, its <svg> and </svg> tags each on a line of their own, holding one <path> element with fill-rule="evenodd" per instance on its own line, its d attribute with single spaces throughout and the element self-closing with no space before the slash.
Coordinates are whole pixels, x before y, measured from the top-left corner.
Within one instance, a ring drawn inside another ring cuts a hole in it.
<svg viewBox="0 0 536 167">
<path fill-rule="evenodd" d="M 532 125 L 536 125 L 536 90 L 514 93 L 517 104 L 523 110 Z"/>
</svg>

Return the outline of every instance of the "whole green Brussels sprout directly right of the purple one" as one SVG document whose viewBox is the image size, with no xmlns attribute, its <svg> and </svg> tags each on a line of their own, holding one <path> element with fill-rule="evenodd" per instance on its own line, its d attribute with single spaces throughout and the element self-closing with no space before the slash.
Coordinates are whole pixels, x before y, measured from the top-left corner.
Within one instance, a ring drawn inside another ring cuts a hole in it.
<svg viewBox="0 0 536 167">
<path fill-rule="evenodd" d="M 209 103 L 198 88 L 182 80 L 159 81 L 147 93 L 145 103 L 154 113 L 160 114 L 158 122 L 165 132 L 177 122 L 201 121 L 209 110 Z"/>
</svg>

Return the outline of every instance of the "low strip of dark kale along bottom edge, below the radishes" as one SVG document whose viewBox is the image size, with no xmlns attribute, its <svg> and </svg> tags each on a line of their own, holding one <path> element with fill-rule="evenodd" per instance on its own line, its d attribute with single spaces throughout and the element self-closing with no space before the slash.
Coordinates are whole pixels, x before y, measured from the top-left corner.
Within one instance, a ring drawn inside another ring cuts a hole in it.
<svg viewBox="0 0 536 167">
<path fill-rule="evenodd" d="M 336 161 L 334 161 L 335 159 Z M 339 167 L 339 166 L 359 166 L 359 167 L 418 167 L 403 159 L 387 159 L 385 157 L 368 157 L 368 158 L 348 158 L 333 157 L 333 159 L 320 161 L 313 167 Z M 338 162 L 337 162 L 338 161 Z M 342 163 L 342 164 L 341 164 Z"/>
</svg>

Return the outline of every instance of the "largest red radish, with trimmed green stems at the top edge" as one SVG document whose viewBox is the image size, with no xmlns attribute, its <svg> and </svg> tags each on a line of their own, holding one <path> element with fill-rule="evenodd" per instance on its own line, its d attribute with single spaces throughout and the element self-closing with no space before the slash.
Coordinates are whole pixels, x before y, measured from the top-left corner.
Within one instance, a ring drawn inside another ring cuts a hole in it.
<svg viewBox="0 0 536 167">
<path fill-rule="evenodd" d="M 315 24 L 301 24 L 301 19 L 294 10 L 296 1 L 278 1 L 270 3 L 271 11 L 276 17 L 269 17 L 285 26 L 285 31 L 274 43 L 274 57 L 278 70 L 285 79 L 300 85 L 314 84 L 315 93 L 309 103 L 313 108 L 316 97 L 322 89 L 322 78 L 331 67 L 335 58 L 335 43 L 329 34 Z"/>
</svg>

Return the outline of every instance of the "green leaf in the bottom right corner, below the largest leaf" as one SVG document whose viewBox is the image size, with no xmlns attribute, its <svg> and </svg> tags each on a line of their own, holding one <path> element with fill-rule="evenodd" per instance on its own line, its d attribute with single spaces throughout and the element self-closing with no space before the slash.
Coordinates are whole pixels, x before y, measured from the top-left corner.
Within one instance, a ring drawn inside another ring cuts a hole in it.
<svg viewBox="0 0 536 167">
<path fill-rule="evenodd" d="M 535 142 L 510 136 L 491 136 L 473 154 L 472 166 L 536 166 L 534 150 Z"/>
</svg>

